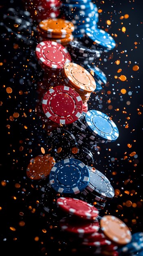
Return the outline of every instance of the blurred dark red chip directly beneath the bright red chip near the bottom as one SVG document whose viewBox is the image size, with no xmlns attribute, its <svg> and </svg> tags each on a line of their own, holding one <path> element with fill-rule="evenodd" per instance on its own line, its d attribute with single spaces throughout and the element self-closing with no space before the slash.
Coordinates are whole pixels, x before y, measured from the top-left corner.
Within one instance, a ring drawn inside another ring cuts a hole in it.
<svg viewBox="0 0 143 256">
<path fill-rule="evenodd" d="M 66 217 L 59 221 L 59 225 L 62 231 L 67 231 L 74 234 L 84 235 L 92 234 L 99 230 L 99 222 L 95 220 L 94 222 L 78 220 L 73 217 Z"/>
</svg>

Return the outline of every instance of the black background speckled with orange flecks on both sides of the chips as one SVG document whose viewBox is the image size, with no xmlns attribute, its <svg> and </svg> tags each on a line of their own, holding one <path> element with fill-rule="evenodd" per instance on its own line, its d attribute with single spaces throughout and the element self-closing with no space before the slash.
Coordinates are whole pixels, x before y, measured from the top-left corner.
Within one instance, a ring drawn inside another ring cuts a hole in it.
<svg viewBox="0 0 143 256">
<path fill-rule="evenodd" d="M 143 230 L 143 4 L 139 0 L 102 2 L 95 1 L 98 9 L 103 10 L 99 14 L 98 25 L 101 29 L 108 29 L 117 47 L 101 54 L 101 58 L 95 62 L 106 74 L 108 84 L 101 92 L 92 94 L 88 106 L 112 117 L 119 129 L 119 138 L 95 148 L 94 166 L 106 174 L 116 191 L 114 199 L 107 202 L 102 216 L 105 212 L 117 216 L 130 227 L 133 234 Z M 1 1 L 0 4 L 1 17 L 9 7 L 23 8 L 21 1 Z M 126 13 L 129 18 L 121 20 L 120 17 Z M 106 20 L 111 20 L 110 26 Z M 125 33 L 121 31 L 122 27 L 126 28 Z M 55 194 L 49 194 L 51 210 L 48 215 L 42 216 L 36 206 L 36 201 L 40 199 L 37 183 L 26 177 L 29 160 L 41 153 L 41 147 L 48 150 L 46 132 L 35 114 L 36 87 L 42 77 L 41 68 L 26 45 L 2 35 L 0 41 L 1 255 L 6 252 L 33 256 L 64 255 L 71 249 L 57 227 L 61 213 L 53 205 Z M 18 44 L 17 49 L 15 43 Z M 120 60 L 119 65 L 115 63 L 117 60 Z M 36 63 L 36 69 L 29 63 Z M 134 65 L 139 66 L 136 72 L 132 70 Z M 121 73 L 117 73 L 119 68 L 122 69 Z M 121 74 L 126 76 L 126 81 L 115 79 Z M 7 87 L 12 88 L 11 94 L 7 93 Z M 122 94 L 121 89 L 125 89 L 126 94 Z M 19 117 L 11 121 L 14 112 L 18 112 Z M 132 147 L 129 148 L 128 144 Z M 22 151 L 20 147 L 23 147 Z M 132 152 L 136 152 L 136 158 L 130 156 Z M 131 201 L 130 207 L 127 201 Z M 59 214 L 58 217 L 55 217 L 55 213 Z M 23 227 L 20 226 L 21 221 L 24 222 Z M 11 230 L 13 228 L 15 231 Z M 46 229 L 46 233 L 42 229 Z M 38 241 L 34 240 L 36 236 L 39 237 Z"/>
</svg>

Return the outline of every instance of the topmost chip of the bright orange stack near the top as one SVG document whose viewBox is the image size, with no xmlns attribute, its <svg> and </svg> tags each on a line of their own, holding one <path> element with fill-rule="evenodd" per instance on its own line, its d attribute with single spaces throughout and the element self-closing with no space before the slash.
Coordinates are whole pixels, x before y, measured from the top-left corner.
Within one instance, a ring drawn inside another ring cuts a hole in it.
<svg viewBox="0 0 143 256">
<path fill-rule="evenodd" d="M 74 25 L 69 20 L 58 18 L 42 20 L 39 23 L 40 29 L 51 34 L 67 34 L 74 31 Z"/>
</svg>

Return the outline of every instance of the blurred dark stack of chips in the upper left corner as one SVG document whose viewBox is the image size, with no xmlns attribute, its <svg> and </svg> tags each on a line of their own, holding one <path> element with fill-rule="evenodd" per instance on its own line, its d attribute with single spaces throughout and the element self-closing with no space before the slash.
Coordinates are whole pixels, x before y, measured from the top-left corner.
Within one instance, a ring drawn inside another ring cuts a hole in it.
<svg viewBox="0 0 143 256">
<path fill-rule="evenodd" d="M 4 13 L 0 26 L 7 38 L 13 37 L 18 43 L 26 45 L 35 44 L 35 32 L 29 11 L 23 11 L 19 7 L 9 8 L 7 13 Z"/>
</svg>

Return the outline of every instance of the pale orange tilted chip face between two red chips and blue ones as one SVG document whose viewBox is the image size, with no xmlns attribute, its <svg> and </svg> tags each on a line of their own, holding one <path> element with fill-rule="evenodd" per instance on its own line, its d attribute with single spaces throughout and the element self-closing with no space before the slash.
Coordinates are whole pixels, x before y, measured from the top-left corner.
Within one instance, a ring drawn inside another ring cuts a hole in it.
<svg viewBox="0 0 143 256">
<path fill-rule="evenodd" d="M 64 64 L 63 74 L 66 81 L 81 92 L 93 92 L 96 89 L 95 79 L 80 65 L 72 62 Z"/>
</svg>

